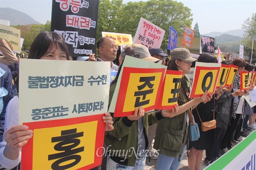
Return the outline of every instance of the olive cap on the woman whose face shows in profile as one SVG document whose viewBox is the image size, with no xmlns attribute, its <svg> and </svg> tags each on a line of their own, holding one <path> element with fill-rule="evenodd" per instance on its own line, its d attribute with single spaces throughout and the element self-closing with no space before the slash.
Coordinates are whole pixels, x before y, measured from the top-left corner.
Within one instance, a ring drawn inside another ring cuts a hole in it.
<svg viewBox="0 0 256 170">
<path fill-rule="evenodd" d="M 197 61 L 197 59 L 191 57 L 189 50 L 186 48 L 175 48 L 171 51 L 170 55 L 172 60 L 180 59 L 184 62 Z"/>
</svg>

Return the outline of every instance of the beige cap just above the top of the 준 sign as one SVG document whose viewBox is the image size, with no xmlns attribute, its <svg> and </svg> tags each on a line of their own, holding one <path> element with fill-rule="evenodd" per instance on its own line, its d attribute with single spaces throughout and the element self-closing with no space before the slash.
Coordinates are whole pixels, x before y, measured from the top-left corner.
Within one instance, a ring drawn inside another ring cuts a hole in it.
<svg viewBox="0 0 256 170">
<path fill-rule="evenodd" d="M 125 55 L 136 57 L 139 59 L 145 59 L 151 62 L 159 62 L 159 59 L 151 57 L 148 48 L 141 44 L 129 44 L 122 49 L 122 60 L 125 59 Z"/>
</svg>

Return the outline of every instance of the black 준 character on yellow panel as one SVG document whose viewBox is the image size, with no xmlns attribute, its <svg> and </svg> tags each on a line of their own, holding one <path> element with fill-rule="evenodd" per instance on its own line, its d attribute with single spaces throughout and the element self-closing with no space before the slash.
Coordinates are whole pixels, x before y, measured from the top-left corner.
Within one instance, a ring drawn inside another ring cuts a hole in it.
<svg viewBox="0 0 256 170">
<path fill-rule="evenodd" d="M 151 81 L 154 81 L 154 80 L 155 80 L 154 76 L 140 77 L 140 82 L 144 82 L 144 83 L 142 85 L 137 86 L 139 91 L 135 91 L 135 93 L 134 93 L 134 96 L 138 96 L 138 97 L 136 97 L 134 107 L 140 107 L 143 105 L 147 105 L 149 103 L 149 100 L 145 100 L 145 99 L 146 99 L 147 94 L 152 94 L 154 91 L 152 89 L 154 84 L 151 83 Z M 148 86 L 148 88 L 151 88 L 151 89 L 142 91 L 146 86 Z M 143 96 L 142 100 L 144 100 L 144 101 L 140 102 L 140 100 L 141 100 L 140 96 Z"/>
</svg>

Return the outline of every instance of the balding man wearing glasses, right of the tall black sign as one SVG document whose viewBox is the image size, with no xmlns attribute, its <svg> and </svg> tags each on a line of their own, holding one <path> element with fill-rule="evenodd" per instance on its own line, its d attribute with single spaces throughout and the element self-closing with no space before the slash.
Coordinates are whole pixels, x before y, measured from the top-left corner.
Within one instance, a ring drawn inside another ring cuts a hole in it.
<svg viewBox="0 0 256 170">
<path fill-rule="evenodd" d="M 110 61 L 110 71 L 118 71 L 119 66 L 113 63 L 118 50 L 115 40 L 111 37 L 101 37 L 97 42 L 97 48 L 99 50 L 99 61 Z"/>
</svg>

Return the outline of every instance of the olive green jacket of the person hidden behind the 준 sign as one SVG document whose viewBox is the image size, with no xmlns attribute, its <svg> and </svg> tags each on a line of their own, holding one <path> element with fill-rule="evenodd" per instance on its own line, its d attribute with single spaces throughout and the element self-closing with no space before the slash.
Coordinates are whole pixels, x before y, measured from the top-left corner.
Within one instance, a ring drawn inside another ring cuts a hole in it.
<svg viewBox="0 0 256 170">
<path fill-rule="evenodd" d="M 110 86 L 109 104 L 111 103 L 116 83 Z M 112 113 L 111 113 L 112 115 Z M 113 115 L 112 115 L 113 116 Z M 145 113 L 143 126 L 148 149 L 148 126 L 157 123 L 163 116 L 161 111 Z M 108 155 L 119 164 L 134 167 L 138 150 L 138 121 L 130 121 L 127 116 L 113 117 L 114 130 L 105 133 Z M 122 161 L 123 160 L 123 161 Z"/>
</svg>

